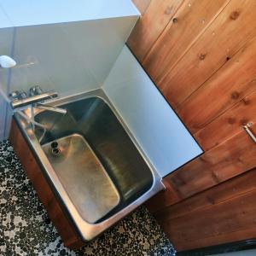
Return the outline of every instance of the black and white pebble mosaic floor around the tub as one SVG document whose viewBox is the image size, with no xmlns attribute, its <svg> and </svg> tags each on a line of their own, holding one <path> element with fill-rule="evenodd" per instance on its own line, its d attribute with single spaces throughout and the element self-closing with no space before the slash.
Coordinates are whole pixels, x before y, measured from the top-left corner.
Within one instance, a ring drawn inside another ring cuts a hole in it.
<svg viewBox="0 0 256 256">
<path fill-rule="evenodd" d="M 145 207 L 79 251 L 63 246 L 8 141 L 0 142 L 0 255 L 175 255 Z"/>
</svg>

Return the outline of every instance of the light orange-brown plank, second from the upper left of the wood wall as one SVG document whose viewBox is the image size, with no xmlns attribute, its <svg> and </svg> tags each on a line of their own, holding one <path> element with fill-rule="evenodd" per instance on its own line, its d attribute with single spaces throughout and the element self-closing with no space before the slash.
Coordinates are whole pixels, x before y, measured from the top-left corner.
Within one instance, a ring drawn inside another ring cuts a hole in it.
<svg viewBox="0 0 256 256">
<path fill-rule="evenodd" d="M 143 67 L 156 84 L 159 84 L 172 70 L 172 67 L 177 64 L 229 1 L 186 0 L 183 2 L 143 60 Z M 161 86 L 164 87 L 165 84 Z M 170 90 L 176 86 L 177 83 L 167 85 Z"/>
</svg>

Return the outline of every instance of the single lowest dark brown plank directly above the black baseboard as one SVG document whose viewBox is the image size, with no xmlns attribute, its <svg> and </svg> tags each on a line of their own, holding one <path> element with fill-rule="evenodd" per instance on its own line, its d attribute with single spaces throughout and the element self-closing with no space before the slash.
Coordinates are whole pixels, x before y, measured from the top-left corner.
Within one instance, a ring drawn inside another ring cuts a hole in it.
<svg viewBox="0 0 256 256">
<path fill-rule="evenodd" d="M 191 212 L 189 216 L 163 224 L 163 229 L 177 251 L 253 239 L 256 236 L 255 196 L 256 191 L 253 190 L 229 201 Z"/>
</svg>

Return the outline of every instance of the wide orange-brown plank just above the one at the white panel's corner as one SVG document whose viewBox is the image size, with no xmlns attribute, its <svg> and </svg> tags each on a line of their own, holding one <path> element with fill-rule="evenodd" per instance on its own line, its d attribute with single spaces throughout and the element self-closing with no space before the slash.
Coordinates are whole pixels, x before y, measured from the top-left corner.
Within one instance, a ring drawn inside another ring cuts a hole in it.
<svg viewBox="0 0 256 256">
<path fill-rule="evenodd" d="M 255 67 L 256 38 L 253 38 L 177 109 L 189 131 L 199 131 L 256 90 Z"/>
</svg>

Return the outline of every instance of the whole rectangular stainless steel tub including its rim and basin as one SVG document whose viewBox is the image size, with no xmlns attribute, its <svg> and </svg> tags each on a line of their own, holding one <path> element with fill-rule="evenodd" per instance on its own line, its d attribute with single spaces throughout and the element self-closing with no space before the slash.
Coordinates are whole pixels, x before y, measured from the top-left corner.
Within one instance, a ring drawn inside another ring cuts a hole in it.
<svg viewBox="0 0 256 256">
<path fill-rule="evenodd" d="M 164 186 L 102 90 L 51 104 L 67 114 L 38 110 L 35 120 L 46 132 L 15 119 L 79 235 L 90 241 Z"/>
</svg>

